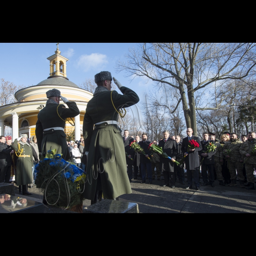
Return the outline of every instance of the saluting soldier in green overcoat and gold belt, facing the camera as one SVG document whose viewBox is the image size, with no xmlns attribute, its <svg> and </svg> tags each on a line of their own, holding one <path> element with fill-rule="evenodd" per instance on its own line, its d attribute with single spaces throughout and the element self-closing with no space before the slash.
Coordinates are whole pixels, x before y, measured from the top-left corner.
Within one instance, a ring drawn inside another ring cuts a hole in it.
<svg viewBox="0 0 256 256">
<path fill-rule="evenodd" d="M 19 139 L 15 139 L 11 144 L 16 154 L 16 185 L 19 186 L 20 195 L 32 195 L 27 191 L 27 184 L 33 183 L 32 166 L 33 154 L 32 147 L 27 143 L 27 135 L 22 134 Z"/>
</svg>

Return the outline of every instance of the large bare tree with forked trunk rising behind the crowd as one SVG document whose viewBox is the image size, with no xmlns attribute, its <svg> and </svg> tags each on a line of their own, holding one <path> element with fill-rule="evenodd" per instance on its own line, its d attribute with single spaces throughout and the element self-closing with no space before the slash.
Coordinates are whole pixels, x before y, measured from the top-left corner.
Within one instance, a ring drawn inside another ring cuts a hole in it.
<svg viewBox="0 0 256 256">
<path fill-rule="evenodd" d="M 196 110 L 218 109 L 222 103 L 196 107 L 195 93 L 223 80 L 253 76 L 256 65 L 254 43 L 143 43 L 129 49 L 126 58 L 117 62 L 117 72 L 146 76 L 158 87 L 164 84 L 178 91 L 177 105 L 182 102 L 186 125 L 195 135 Z"/>
</svg>

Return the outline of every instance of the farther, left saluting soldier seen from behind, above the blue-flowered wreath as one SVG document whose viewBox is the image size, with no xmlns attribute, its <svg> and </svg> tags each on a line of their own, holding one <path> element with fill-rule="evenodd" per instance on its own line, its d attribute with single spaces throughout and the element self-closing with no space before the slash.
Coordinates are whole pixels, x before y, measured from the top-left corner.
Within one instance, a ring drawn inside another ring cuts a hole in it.
<svg viewBox="0 0 256 256">
<path fill-rule="evenodd" d="M 38 113 L 35 124 L 35 135 L 37 136 L 38 150 L 47 154 L 50 149 L 56 149 L 56 154 L 62 154 L 62 158 L 69 160 L 68 147 L 64 128 L 66 118 L 78 116 L 80 113 L 75 102 L 60 95 L 60 91 L 52 89 L 46 92 L 48 101 L 46 106 Z M 60 98 L 68 105 L 60 104 Z"/>
</svg>

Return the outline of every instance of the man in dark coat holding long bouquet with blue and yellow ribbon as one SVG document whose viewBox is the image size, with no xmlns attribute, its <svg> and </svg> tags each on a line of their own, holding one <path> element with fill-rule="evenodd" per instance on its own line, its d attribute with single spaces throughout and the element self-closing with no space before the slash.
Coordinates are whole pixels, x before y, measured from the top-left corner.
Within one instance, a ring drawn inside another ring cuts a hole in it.
<svg viewBox="0 0 256 256">
<path fill-rule="evenodd" d="M 165 178 L 165 184 L 163 187 L 169 186 L 169 182 L 171 183 L 171 187 L 175 188 L 175 172 L 174 172 L 174 163 L 176 156 L 176 141 L 169 138 L 169 131 L 163 131 L 163 140 L 160 140 L 158 146 L 162 147 L 162 150 L 171 157 L 169 158 L 162 157 L 160 155 L 160 170 L 163 172 L 163 177 Z"/>
</svg>

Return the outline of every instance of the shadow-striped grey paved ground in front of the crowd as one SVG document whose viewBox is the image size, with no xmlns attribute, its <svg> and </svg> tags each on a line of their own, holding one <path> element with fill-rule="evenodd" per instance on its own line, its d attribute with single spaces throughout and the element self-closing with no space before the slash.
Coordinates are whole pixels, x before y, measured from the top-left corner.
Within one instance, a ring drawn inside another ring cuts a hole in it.
<svg viewBox="0 0 256 256">
<path fill-rule="evenodd" d="M 186 181 L 187 179 L 185 179 Z M 147 180 L 148 182 L 148 180 Z M 132 194 L 120 196 L 120 200 L 139 204 L 142 213 L 233 213 L 233 212 L 254 212 L 256 213 L 256 190 L 247 190 L 237 187 L 220 186 L 215 181 L 215 188 L 210 185 L 200 187 L 200 191 L 185 189 L 185 185 L 176 183 L 176 188 L 161 187 L 163 180 L 154 180 L 153 184 L 141 184 L 140 181 L 131 183 Z M 256 187 L 256 184 L 255 184 Z M 18 187 L 15 186 L 15 193 Z M 29 188 L 33 193 L 30 197 L 42 199 L 42 194 L 37 188 Z M 84 200 L 84 206 L 89 206 L 90 201 Z M 45 212 L 51 212 L 46 209 Z"/>
</svg>

